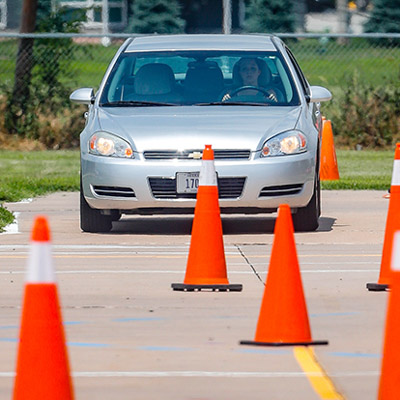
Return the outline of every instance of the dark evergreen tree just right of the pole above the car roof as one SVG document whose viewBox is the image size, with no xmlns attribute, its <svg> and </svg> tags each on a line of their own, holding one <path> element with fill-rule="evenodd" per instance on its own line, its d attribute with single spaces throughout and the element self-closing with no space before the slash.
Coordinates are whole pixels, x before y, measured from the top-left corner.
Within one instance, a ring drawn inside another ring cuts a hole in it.
<svg viewBox="0 0 400 400">
<path fill-rule="evenodd" d="M 245 28 L 249 32 L 294 32 L 292 1 L 250 0 L 246 9 Z"/>
</svg>

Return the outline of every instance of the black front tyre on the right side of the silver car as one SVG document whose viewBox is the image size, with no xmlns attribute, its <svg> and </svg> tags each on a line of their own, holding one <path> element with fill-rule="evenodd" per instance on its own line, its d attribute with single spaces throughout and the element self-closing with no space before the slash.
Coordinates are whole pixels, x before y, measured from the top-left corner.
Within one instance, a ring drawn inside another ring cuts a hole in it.
<svg viewBox="0 0 400 400">
<path fill-rule="evenodd" d="M 306 207 L 297 209 L 293 214 L 293 225 L 297 232 L 312 232 L 318 228 L 321 214 L 321 185 L 319 174 L 316 177 L 314 193 Z"/>
</svg>

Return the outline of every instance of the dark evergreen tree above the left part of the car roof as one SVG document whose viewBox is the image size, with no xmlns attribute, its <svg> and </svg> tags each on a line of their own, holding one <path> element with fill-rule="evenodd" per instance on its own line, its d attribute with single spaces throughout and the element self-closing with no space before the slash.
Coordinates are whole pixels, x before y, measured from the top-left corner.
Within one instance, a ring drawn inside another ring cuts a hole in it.
<svg viewBox="0 0 400 400">
<path fill-rule="evenodd" d="M 182 33 L 185 21 L 181 18 L 178 0 L 134 0 L 127 32 Z"/>
</svg>

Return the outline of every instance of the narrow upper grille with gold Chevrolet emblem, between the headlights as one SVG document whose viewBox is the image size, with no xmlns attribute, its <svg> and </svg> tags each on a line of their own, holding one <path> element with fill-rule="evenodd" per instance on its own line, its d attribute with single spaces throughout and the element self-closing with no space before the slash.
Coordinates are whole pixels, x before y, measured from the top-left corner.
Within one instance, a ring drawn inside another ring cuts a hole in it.
<svg viewBox="0 0 400 400">
<path fill-rule="evenodd" d="M 200 159 L 196 155 L 201 155 L 202 150 L 184 150 L 184 151 L 145 151 L 146 160 L 193 160 Z M 250 150 L 214 150 L 214 159 L 216 160 L 248 160 Z"/>
</svg>

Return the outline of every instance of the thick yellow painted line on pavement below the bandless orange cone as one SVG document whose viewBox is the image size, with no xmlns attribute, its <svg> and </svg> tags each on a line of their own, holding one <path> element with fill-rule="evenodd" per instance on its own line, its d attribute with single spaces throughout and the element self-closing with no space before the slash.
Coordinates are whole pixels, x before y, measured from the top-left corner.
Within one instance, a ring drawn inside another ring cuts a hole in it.
<svg viewBox="0 0 400 400">
<path fill-rule="evenodd" d="M 311 386 L 315 392 L 323 400 L 345 400 L 345 398 L 337 392 L 332 381 L 319 365 L 314 351 L 308 346 L 296 346 L 293 350 L 297 362 L 307 375 Z"/>
</svg>

